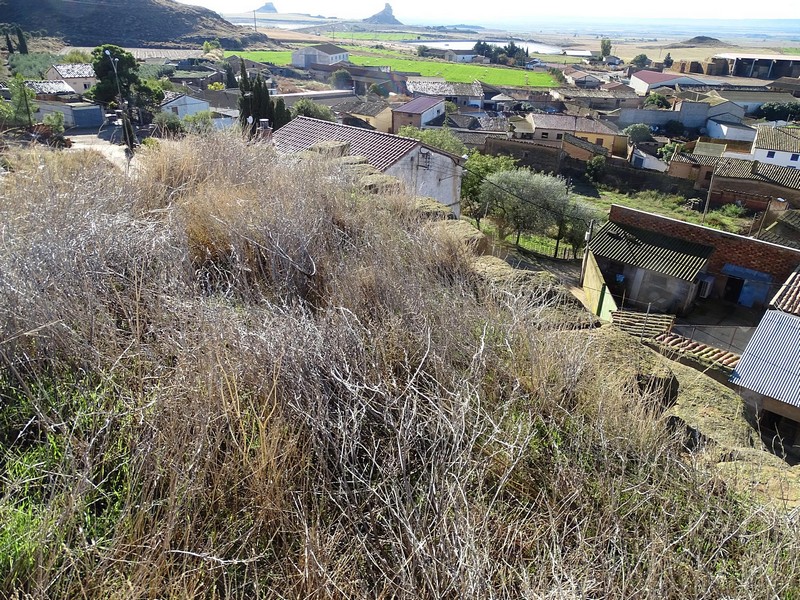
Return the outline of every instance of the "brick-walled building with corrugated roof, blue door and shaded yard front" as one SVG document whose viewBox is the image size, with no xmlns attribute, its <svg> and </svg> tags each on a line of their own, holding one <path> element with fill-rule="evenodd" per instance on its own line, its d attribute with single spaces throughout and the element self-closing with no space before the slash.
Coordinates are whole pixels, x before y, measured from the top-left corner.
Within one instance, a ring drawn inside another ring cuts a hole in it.
<svg viewBox="0 0 800 600">
<path fill-rule="evenodd" d="M 684 313 L 698 297 L 766 307 L 800 265 L 797 249 L 616 204 L 601 231 L 589 251 L 608 288 L 662 312 Z"/>
</svg>

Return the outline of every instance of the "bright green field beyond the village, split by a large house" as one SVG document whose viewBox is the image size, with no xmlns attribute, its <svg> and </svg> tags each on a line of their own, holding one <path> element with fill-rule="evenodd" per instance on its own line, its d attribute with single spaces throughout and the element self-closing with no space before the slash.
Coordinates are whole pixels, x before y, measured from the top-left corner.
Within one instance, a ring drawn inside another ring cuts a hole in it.
<svg viewBox="0 0 800 600">
<path fill-rule="evenodd" d="M 369 52 L 369 49 L 362 48 L 361 50 Z M 237 54 L 242 58 L 249 58 L 257 62 L 269 62 L 275 65 L 288 65 L 292 60 L 292 53 L 289 51 L 254 50 Z M 386 51 L 386 54 L 395 53 Z M 388 66 L 393 71 L 419 73 L 424 77 L 444 77 L 447 81 L 454 83 L 470 83 L 479 79 L 489 85 L 508 87 L 549 87 L 555 85 L 555 81 L 548 73 L 510 69 L 494 65 L 471 65 L 438 60 L 393 58 L 383 55 L 358 56 L 353 54 L 350 55 L 350 61 L 353 64 L 365 67 Z"/>
</svg>

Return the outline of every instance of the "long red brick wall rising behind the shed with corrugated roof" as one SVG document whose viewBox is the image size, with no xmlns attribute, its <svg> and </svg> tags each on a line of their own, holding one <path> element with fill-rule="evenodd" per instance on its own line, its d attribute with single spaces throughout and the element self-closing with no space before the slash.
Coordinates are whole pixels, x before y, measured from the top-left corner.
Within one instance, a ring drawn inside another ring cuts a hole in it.
<svg viewBox="0 0 800 600">
<path fill-rule="evenodd" d="M 652 215 L 624 206 L 612 205 L 609 220 L 622 225 L 656 231 L 682 240 L 712 246 L 714 253 L 708 263 L 713 275 L 722 272 L 726 263 L 769 273 L 773 283 L 783 283 L 800 265 L 800 250 L 784 248 L 733 233 L 718 231 L 677 219 Z"/>
</svg>

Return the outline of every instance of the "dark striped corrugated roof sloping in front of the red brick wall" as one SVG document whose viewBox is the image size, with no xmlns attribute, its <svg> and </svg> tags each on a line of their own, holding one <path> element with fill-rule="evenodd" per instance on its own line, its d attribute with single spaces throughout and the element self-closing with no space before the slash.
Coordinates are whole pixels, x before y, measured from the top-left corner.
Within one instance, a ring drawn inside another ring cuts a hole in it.
<svg viewBox="0 0 800 600">
<path fill-rule="evenodd" d="M 612 222 L 597 232 L 589 248 L 595 256 L 685 281 L 694 281 L 714 252 L 710 246 Z"/>
</svg>

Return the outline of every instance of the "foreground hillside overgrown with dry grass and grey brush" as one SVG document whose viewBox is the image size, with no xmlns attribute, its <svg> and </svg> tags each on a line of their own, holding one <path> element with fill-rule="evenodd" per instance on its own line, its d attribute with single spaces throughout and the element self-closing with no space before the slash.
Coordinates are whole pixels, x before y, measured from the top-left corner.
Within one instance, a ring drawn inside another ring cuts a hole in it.
<svg viewBox="0 0 800 600">
<path fill-rule="evenodd" d="M 408 198 L 233 137 L 9 161 L 0 596 L 800 593 L 665 363 Z"/>
</svg>

